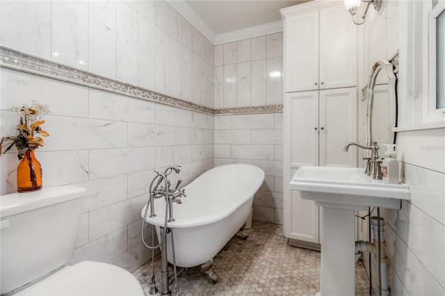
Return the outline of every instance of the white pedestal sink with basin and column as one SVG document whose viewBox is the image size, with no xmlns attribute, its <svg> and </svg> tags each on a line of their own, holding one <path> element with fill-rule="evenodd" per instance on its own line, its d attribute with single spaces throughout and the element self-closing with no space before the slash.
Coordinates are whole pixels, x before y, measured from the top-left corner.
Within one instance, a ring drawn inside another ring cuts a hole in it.
<svg viewBox="0 0 445 296">
<path fill-rule="evenodd" d="M 355 210 L 398 209 L 410 189 L 372 179 L 357 167 L 300 167 L 289 188 L 323 206 L 321 295 L 355 295 Z"/>
</svg>

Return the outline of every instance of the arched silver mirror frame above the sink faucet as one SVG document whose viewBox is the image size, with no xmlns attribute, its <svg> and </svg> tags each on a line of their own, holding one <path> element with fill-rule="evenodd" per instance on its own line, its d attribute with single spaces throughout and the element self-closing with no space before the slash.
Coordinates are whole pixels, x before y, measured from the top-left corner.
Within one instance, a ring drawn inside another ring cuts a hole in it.
<svg viewBox="0 0 445 296">
<path fill-rule="evenodd" d="M 371 75 L 369 76 L 368 88 L 366 97 L 368 98 L 368 106 L 366 108 L 366 145 L 371 146 L 373 142 L 372 137 L 372 123 L 373 123 L 373 89 L 375 87 L 375 80 L 380 71 L 386 72 L 388 76 L 388 95 L 389 95 L 389 123 L 391 127 L 388 132 L 388 139 L 392 138 L 391 143 L 396 143 L 396 132 L 392 131 L 397 126 L 397 94 L 396 94 L 396 74 L 394 68 L 387 60 L 378 60 L 373 65 Z M 383 143 L 380 143 L 383 144 Z"/>
</svg>

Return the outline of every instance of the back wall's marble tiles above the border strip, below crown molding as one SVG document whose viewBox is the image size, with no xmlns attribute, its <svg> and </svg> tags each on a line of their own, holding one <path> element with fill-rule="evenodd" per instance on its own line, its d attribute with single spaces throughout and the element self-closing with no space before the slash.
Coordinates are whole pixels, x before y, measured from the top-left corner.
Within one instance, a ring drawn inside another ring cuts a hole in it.
<svg viewBox="0 0 445 296">
<path fill-rule="evenodd" d="M 282 104 L 282 33 L 216 45 L 215 108 Z"/>
</svg>

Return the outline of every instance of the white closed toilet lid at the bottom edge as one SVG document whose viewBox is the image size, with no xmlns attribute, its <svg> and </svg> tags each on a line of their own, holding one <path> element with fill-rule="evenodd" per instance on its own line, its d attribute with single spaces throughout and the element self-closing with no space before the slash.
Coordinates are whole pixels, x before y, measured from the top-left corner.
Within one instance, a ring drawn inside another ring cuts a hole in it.
<svg viewBox="0 0 445 296">
<path fill-rule="evenodd" d="M 62 268 L 17 295 L 144 295 L 138 280 L 115 265 L 82 261 Z"/>
</svg>

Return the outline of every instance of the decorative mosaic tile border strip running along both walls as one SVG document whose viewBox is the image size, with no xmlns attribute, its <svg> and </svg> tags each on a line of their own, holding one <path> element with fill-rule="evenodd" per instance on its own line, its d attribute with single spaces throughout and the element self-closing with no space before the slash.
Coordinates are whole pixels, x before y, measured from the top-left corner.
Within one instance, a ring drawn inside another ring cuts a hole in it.
<svg viewBox="0 0 445 296">
<path fill-rule="evenodd" d="M 115 79 L 93 74 L 84 69 L 78 69 L 68 65 L 54 62 L 47 58 L 34 56 L 11 47 L 0 44 L 0 67 L 13 69 L 27 74 L 42 76 L 49 79 L 56 79 L 67 83 L 95 88 L 123 94 L 136 99 L 154 101 L 156 103 L 192 110 L 208 115 L 235 115 L 235 114 L 255 114 L 255 113 L 277 113 L 283 112 L 283 106 L 252 106 L 243 108 L 212 109 L 188 101 L 159 94 L 152 90 L 140 88 L 129 83 L 124 83 Z"/>
</svg>

